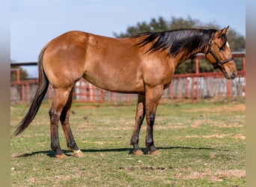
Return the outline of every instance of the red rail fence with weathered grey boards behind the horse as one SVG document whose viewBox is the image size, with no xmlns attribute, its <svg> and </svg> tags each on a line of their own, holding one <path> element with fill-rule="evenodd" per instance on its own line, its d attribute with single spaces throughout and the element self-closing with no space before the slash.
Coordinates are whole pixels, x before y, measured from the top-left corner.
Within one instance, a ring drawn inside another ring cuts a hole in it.
<svg viewBox="0 0 256 187">
<path fill-rule="evenodd" d="M 233 53 L 234 58 L 243 58 L 243 70 L 237 72 L 234 80 L 225 79 L 223 73 L 199 73 L 199 60 L 204 59 L 204 55 L 195 56 L 196 73 L 186 73 L 174 75 L 171 85 L 165 89 L 162 98 L 171 99 L 203 99 L 214 96 L 246 96 L 246 54 Z M 22 63 L 24 65 L 25 63 Z M 34 63 L 30 63 L 33 64 Z M 13 64 L 13 66 L 18 64 Z M 16 73 L 16 70 L 13 70 Z M 18 74 L 17 74 L 18 75 Z M 17 76 L 18 78 L 19 76 Z M 34 97 L 37 89 L 37 79 L 10 83 L 10 102 L 29 103 Z M 54 91 L 49 86 L 46 99 L 52 100 Z M 73 91 L 75 102 L 130 102 L 137 99 L 135 94 L 113 93 L 104 91 L 91 85 L 85 79 L 76 82 Z"/>
</svg>

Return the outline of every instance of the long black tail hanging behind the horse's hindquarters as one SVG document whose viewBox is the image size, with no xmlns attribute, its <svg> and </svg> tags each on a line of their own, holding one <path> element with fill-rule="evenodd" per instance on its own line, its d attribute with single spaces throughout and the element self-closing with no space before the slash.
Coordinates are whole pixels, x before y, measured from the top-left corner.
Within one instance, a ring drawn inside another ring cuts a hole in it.
<svg viewBox="0 0 256 187">
<path fill-rule="evenodd" d="M 36 116 L 38 109 L 40 108 L 40 105 L 43 101 L 43 97 L 46 95 L 47 88 L 49 86 L 49 80 L 46 78 L 46 75 L 43 70 L 43 53 L 45 49 L 46 47 L 42 49 L 38 57 L 39 80 L 38 80 L 37 92 L 35 93 L 34 99 L 30 105 L 28 113 L 25 115 L 23 120 L 19 122 L 19 126 L 17 127 L 13 135 L 19 135 L 30 125 L 32 120 L 34 120 L 34 117 Z"/>
</svg>

